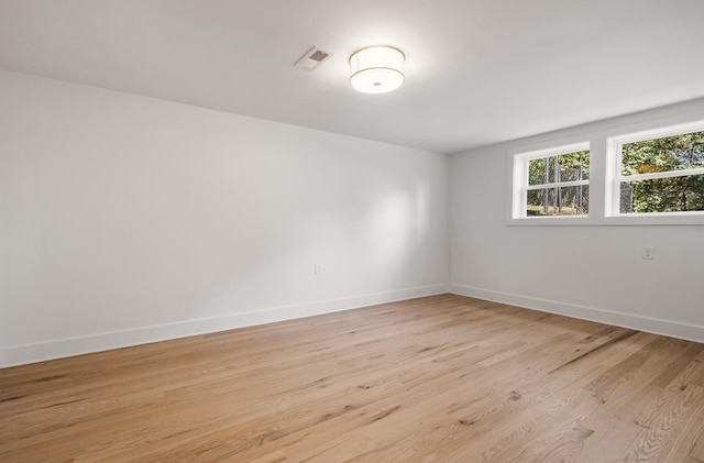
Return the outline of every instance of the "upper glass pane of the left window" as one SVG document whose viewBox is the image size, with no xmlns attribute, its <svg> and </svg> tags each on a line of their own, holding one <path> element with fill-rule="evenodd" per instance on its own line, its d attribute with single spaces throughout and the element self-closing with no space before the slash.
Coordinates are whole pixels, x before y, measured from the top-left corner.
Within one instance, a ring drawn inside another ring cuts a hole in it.
<svg viewBox="0 0 704 463">
<path fill-rule="evenodd" d="M 528 185 L 547 185 L 588 178 L 588 151 L 541 157 L 530 159 L 528 163 Z"/>
</svg>

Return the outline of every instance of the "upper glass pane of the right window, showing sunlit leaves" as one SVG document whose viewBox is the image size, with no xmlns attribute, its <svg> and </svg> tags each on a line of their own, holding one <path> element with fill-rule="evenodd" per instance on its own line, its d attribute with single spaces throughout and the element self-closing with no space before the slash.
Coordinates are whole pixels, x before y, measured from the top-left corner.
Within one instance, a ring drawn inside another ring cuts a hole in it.
<svg viewBox="0 0 704 463">
<path fill-rule="evenodd" d="M 704 132 L 624 144 L 623 175 L 704 167 Z"/>
</svg>

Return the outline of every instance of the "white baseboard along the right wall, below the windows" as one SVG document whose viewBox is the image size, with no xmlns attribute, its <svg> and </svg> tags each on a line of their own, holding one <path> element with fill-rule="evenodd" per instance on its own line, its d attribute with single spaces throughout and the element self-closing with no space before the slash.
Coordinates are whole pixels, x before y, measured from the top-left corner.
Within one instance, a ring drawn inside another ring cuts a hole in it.
<svg viewBox="0 0 704 463">
<path fill-rule="evenodd" d="M 512 306 L 525 307 L 527 309 L 558 313 L 565 317 L 596 321 L 600 323 L 615 324 L 617 327 L 630 328 L 634 330 L 646 331 L 654 334 L 663 334 L 667 337 L 684 339 L 688 341 L 704 342 L 703 326 L 685 324 L 676 321 L 635 316 L 631 313 L 615 312 L 610 310 L 596 309 L 593 307 L 576 306 L 573 304 L 558 302 L 554 300 L 538 299 L 509 293 L 474 288 L 471 286 L 450 285 L 449 291 L 460 296 L 469 296 L 477 299 L 491 300 L 494 302 L 508 304 Z"/>
</svg>

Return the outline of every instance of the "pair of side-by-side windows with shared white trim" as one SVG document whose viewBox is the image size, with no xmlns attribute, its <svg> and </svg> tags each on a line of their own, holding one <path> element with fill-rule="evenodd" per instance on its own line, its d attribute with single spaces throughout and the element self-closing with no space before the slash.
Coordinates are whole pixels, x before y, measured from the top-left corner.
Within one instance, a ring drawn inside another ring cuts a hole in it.
<svg viewBox="0 0 704 463">
<path fill-rule="evenodd" d="M 507 224 L 704 225 L 704 120 L 678 119 L 630 132 L 607 121 L 510 150 Z"/>
</svg>

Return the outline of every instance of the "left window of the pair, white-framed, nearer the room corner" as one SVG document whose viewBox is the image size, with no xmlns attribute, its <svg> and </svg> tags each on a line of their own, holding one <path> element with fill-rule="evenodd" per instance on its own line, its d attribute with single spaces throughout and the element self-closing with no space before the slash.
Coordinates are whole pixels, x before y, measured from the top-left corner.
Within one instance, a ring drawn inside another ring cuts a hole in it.
<svg viewBox="0 0 704 463">
<path fill-rule="evenodd" d="M 513 218 L 585 217 L 588 185 L 588 143 L 516 154 Z"/>
</svg>

